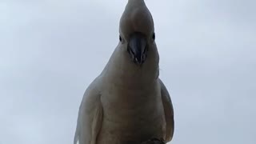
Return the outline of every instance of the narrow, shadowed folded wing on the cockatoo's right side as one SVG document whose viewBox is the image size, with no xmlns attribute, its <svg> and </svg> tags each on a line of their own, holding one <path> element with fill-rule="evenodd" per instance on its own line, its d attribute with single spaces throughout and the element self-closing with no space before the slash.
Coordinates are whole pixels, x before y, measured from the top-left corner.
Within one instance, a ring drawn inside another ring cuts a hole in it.
<svg viewBox="0 0 256 144">
<path fill-rule="evenodd" d="M 163 84 L 162 80 L 159 78 L 161 86 L 161 97 L 162 105 L 165 110 L 166 118 L 166 142 L 170 142 L 174 135 L 174 108 L 170 99 L 170 94 L 166 89 L 166 86 Z"/>
</svg>

